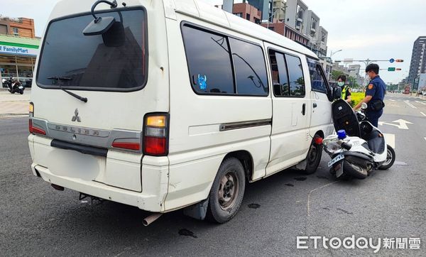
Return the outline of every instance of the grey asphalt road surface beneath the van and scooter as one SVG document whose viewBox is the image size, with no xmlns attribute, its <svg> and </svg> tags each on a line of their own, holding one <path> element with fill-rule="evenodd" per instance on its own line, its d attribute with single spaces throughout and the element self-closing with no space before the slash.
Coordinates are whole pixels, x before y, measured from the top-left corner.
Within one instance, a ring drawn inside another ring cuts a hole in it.
<svg viewBox="0 0 426 257">
<path fill-rule="evenodd" d="M 408 101 L 408 102 L 404 102 Z M 418 101 L 418 102 L 415 102 Z M 412 106 L 410 106 L 410 104 Z M 336 182 L 328 155 L 313 175 L 286 170 L 250 184 L 239 214 L 222 225 L 182 212 L 150 226 L 147 213 L 114 202 L 91 204 L 31 173 L 28 120 L 0 119 L 1 256 L 301 256 L 371 255 L 373 249 L 296 248 L 296 236 L 420 237 L 420 250 L 381 248 L 378 255 L 426 255 L 426 102 L 388 95 L 380 126 L 395 137 L 397 161 L 366 180 Z M 398 119 L 409 121 L 398 128 Z M 393 125 L 389 125 L 393 124 Z M 392 136 L 393 137 L 393 136 Z M 308 212 L 309 211 L 309 212 Z M 320 241 L 321 244 L 321 241 Z"/>
</svg>

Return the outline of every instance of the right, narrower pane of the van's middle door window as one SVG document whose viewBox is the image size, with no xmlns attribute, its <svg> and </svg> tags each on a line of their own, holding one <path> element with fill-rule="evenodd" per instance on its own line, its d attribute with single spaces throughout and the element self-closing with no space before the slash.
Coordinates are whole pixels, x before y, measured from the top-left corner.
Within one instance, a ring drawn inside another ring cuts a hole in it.
<svg viewBox="0 0 426 257">
<path fill-rule="evenodd" d="M 303 78 L 302 62 L 293 55 L 285 55 L 290 79 L 290 96 L 305 97 L 305 80 Z"/>
</svg>

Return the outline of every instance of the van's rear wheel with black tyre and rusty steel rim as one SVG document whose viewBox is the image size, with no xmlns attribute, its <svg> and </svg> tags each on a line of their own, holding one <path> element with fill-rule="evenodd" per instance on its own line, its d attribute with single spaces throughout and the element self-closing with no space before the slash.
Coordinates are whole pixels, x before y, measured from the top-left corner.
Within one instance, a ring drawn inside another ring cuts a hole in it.
<svg viewBox="0 0 426 257">
<path fill-rule="evenodd" d="M 232 219 L 241 206 L 245 187 L 243 165 L 237 158 L 226 158 L 220 165 L 210 190 L 207 219 L 217 223 Z"/>
</svg>

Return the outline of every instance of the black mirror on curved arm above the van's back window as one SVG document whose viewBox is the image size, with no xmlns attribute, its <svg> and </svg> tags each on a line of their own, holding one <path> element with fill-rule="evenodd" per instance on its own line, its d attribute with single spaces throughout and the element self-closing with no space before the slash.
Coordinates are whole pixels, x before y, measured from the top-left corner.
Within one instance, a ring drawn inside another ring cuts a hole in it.
<svg viewBox="0 0 426 257">
<path fill-rule="evenodd" d="M 110 2 L 107 0 L 98 0 L 94 2 L 92 6 L 92 16 L 94 17 L 94 20 L 87 25 L 86 28 L 83 30 L 84 35 L 102 35 L 103 33 L 107 32 L 109 28 L 114 24 L 115 18 L 112 16 L 106 16 L 106 17 L 97 17 L 94 14 L 94 9 L 98 4 L 105 3 L 109 4 L 111 6 L 111 9 L 114 9 L 117 7 L 116 0 Z"/>
</svg>

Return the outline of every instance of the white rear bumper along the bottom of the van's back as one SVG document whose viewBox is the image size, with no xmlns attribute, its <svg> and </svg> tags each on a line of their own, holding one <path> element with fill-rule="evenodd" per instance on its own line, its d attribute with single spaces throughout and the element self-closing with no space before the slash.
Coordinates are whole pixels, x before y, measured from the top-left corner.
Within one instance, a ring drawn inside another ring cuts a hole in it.
<svg viewBox="0 0 426 257">
<path fill-rule="evenodd" d="M 45 142 L 40 143 L 42 141 Z M 62 149 L 58 150 L 49 146 L 48 141 L 51 141 L 51 139 L 34 135 L 28 137 L 31 157 L 33 159 L 33 163 L 31 164 L 33 175 L 40 175 L 46 182 L 94 197 L 129 204 L 148 212 L 165 212 L 164 201 L 168 190 L 168 163 L 166 165 L 149 165 L 142 162 L 142 192 L 126 190 L 121 187 L 107 185 L 104 182 L 88 179 L 87 177 L 79 177 L 72 173 L 60 172 L 58 171 L 58 167 L 56 170 L 46 167 L 48 165 L 43 164 L 45 160 L 38 155 L 44 156 L 43 151 L 63 151 Z M 62 168 L 68 170 L 69 167 L 67 168 L 67 165 L 64 163 Z"/>
</svg>

